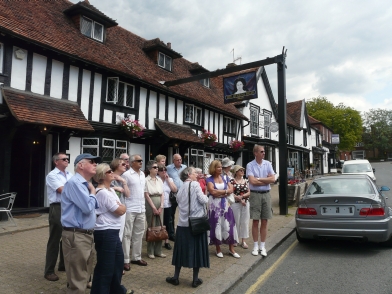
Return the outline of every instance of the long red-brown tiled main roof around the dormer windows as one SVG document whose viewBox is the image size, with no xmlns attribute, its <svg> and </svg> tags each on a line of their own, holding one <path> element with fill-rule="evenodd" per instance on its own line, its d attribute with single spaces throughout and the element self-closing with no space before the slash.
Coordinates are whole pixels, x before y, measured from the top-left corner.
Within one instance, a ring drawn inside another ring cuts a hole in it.
<svg viewBox="0 0 392 294">
<path fill-rule="evenodd" d="M 120 26 L 106 30 L 104 43 L 82 35 L 73 20 L 63 13 L 72 5 L 67 0 L 23 1 L 23 5 L 20 1 L 0 1 L 0 31 L 206 104 L 232 117 L 248 119 L 234 105 L 223 103 L 221 85 L 214 82 L 211 88 L 198 81 L 170 88 L 159 83 L 192 76 L 189 72 L 192 62 L 177 58 L 173 60 L 172 72 L 160 68 L 143 51 L 146 39 Z"/>
</svg>

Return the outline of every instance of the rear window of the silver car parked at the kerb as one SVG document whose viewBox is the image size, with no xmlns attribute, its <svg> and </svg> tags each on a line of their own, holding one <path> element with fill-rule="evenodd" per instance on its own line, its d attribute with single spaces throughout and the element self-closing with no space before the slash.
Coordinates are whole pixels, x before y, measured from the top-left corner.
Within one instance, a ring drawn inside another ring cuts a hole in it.
<svg viewBox="0 0 392 294">
<path fill-rule="evenodd" d="M 313 181 L 306 195 L 313 194 L 374 194 L 370 182 L 363 179 L 330 178 Z"/>
</svg>

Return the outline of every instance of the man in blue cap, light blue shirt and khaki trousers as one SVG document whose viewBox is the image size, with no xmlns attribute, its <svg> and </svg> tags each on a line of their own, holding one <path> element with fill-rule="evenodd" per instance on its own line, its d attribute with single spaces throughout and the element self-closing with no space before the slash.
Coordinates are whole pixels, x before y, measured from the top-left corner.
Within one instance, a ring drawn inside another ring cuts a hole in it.
<svg viewBox="0 0 392 294">
<path fill-rule="evenodd" d="M 95 188 L 90 182 L 101 158 L 89 153 L 76 157 L 75 175 L 61 193 L 61 224 L 67 293 L 84 293 L 92 270 Z"/>
</svg>

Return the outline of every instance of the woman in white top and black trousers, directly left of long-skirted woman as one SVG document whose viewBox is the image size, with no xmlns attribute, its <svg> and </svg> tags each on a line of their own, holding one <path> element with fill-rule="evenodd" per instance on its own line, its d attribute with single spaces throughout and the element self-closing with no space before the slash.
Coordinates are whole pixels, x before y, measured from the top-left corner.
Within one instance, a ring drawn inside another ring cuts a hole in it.
<svg viewBox="0 0 392 294">
<path fill-rule="evenodd" d="M 158 157 L 158 156 L 157 156 Z M 161 178 L 163 182 L 163 193 L 164 193 L 164 199 L 163 199 L 163 225 L 166 226 L 166 230 L 169 236 L 174 234 L 173 231 L 173 225 L 172 220 L 171 220 L 171 203 L 169 200 L 169 194 L 170 192 L 177 192 L 177 187 L 174 184 L 174 181 L 172 178 L 169 177 L 167 174 L 167 169 L 165 165 L 163 164 L 158 164 L 158 176 Z M 171 250 L 172 247 L 169 243 L 169 239 L 165 240 L 165 248 L 167 250 Z"/>
</svg>

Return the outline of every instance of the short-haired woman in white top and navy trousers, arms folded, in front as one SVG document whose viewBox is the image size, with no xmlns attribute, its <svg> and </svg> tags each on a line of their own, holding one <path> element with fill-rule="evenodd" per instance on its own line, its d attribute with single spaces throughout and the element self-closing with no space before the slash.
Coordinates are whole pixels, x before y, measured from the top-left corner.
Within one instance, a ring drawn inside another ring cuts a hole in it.
<svg viewBox="0 0 392 294">
<path fill-rule="evenodd" d="M 113 171 L 107 163 L 97 166 L 94 180 L 98 183 L 95 210 L 97 221 L 94 228 L 97 264 L 90 293 L 127 293 L 121 285 L 124 253 L 119 237 L 121 216 L 126 212 L 116 192 L 110 187 Z"/>
</svg>

